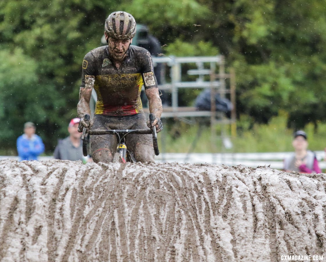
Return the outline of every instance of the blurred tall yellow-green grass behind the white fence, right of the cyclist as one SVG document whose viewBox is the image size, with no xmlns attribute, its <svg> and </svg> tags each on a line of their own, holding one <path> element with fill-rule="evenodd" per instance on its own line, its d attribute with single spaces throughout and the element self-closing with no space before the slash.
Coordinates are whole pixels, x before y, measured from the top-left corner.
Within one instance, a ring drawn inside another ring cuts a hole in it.
<svg viewBox="0 0 326 262">
<path fill-rule="evenodd" d="M 250 153 L 250 152 L 287 152 L 293 151 L 292 139 L 294 130 L 286 127 L 287 115 L 280 113 L 271 119 L 269 124 L 254 124 L 249 128 L 246 116 L 241 116 L 237 122 L 237 134 L 230 136 L 230 125 L 217 125 L 211 134 L 211 127 L 203 124 L 186 124 L 181 121 L 168 123 L 158 134 L 159 148 L 170 153 Z M 201 134 L 198 130 L 201 128 Z M 324 150 L 326 141 L 326 124 L 318 123 L 315 132 L 313 124 L 303 129 L 308 136 L 309 149 Z M 225 148 L 221 133 L 230 138 L 232 148 Z"/>
</svg>

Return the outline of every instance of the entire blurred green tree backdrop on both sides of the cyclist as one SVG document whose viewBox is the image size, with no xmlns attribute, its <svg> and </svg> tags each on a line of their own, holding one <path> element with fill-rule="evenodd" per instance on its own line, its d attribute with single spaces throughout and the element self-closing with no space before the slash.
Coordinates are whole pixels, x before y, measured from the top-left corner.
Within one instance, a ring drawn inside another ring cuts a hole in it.
<svg viewBox="0 0 326 262">
<path fill-rule="evenodd" d="M 116 10 L 147 24 L 166 55 L 224 55 L 250 127 L 280 109 L 292 129 L 317 127 L 326 110 L 325 9 L 326 0 L 0 1 L 0 146 L 14 148 L 25 121 L 37 124 L 48 153 L 68 134 L 83 56 L 101 45 Z"/>
</svg>

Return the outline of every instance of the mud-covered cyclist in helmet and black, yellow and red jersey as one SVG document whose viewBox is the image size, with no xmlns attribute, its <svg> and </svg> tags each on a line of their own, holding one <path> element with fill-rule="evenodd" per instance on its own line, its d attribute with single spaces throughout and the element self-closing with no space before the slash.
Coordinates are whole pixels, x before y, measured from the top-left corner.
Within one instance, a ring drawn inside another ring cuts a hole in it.
<svg viewBox="0 0 326 262">
<path fill-rule="evenodd" d="M 162 130 L 160 120 L 162 102 L 158 94 L 151 54 L 144 48 L 132 46 L 136 22 L 131 14 L 113 12 L 105 21 L 105 39 L 108 45 L 88 52 L 82 63 L 82 84 L 77 112 L 81 124 L 88 129 L 144 129 L 151 126 Z M 155 115 L 146 123 L 141 104 L 141 87 L 144 85 L 150 113 Z M 83 117 L 90 114 L 89 101 L 92 89 L 97 101 L 93 119 L 87 124 Z M 80 130 L 81 131 L 81 130 Z M 136 161 L 154 162 L 150 134 L 126 136 L 128 150 Z M 116 152 L 114 135 L 95 135 L 91 139 L 94 162 L 111 162 Z"/>
</svg>

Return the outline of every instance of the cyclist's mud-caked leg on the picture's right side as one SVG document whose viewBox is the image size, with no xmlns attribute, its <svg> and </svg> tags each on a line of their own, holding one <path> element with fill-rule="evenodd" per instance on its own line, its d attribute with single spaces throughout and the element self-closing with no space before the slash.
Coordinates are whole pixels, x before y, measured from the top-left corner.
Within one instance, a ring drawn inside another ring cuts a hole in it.
<svg viewBox="0 0 326 262">
<path fill-rule="evenodd" d="M 137 114 L 133 119 L 132 129 L 148 129 L 144 114 Z M 131 151 L 137 162 L 155 162 L 153 139 L 151 134 L 128 134 L 126 136 L 128 150 Z"/>
</svg>

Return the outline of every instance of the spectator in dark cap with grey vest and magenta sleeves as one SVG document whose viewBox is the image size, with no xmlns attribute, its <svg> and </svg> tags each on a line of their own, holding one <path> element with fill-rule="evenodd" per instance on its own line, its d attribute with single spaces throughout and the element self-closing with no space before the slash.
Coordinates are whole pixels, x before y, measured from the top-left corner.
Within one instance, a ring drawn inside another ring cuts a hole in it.
<svg viewBox="0 0 326 262">
<path fill-rule="evenodd" d="M 307 134 L 304 131 L 299 130 L 294 133 L 292 145 L 294 153 L 284 160 L 285 171 L 297 171 L 308 174 L 321 173 L 315 153 L 307 150 Z"/>
</svg>

